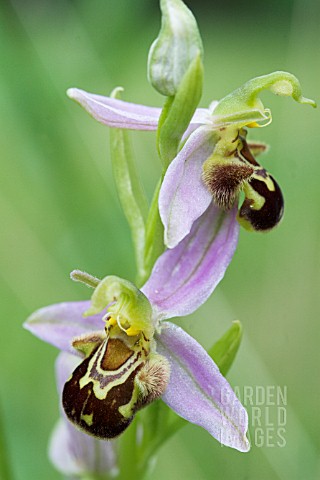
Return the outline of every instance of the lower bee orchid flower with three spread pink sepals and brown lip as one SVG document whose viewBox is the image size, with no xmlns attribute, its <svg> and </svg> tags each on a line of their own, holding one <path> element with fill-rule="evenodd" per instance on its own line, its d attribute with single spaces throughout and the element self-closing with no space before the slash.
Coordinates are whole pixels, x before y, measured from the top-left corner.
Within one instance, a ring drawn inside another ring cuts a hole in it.
<svg viewBox="0 0 320 480">
<path fill-rule="evenodd" d="M 247 414 L 228 382 L 195 339 L 164 322 L 195 311 L 221 280 L 237 243 L 235 216 L 235 209 L 208 209 L 159 257 L 141 290 L 118 277 L 98 281 L 75 271 L 74 279 L 97 285 L 91 305 L 62 303 L 31 315 L 25 326 L 32 333 L 84 357 L 63 391 L 65 412 L 82 430 L 113 438 L 162 396 L 221 443 L 249 449 Z"/>
</svg>

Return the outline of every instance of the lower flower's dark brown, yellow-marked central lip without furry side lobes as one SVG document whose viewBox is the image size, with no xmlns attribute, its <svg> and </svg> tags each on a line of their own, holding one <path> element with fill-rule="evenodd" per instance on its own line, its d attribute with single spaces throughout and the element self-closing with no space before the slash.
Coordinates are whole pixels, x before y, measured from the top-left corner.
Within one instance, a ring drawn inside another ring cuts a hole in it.
<svg viewBox="0 0 320 480">
<path fill-rule="evenodd" d="M 66 382 L 62 403 L 69 420 L 99 438 L 114 438 L 131 423 L 134 412 L 124 417 L 119 407 L 130 402 L 134 378 L 141 369 L 141 354 L 128 350 L 125 361 L 110 365 L 110 350 L 118 339 L 107 339 L 86 358 Z M 138 352 L 139 353 L 139 352 Z"/>
</svg>

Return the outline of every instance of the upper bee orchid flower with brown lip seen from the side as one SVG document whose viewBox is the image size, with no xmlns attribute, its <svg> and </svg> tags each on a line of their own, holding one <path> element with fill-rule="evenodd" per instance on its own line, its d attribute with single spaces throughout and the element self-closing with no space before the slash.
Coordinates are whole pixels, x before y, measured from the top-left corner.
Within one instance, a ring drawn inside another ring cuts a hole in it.
<svg viewBox="0 0 320 480">
<path fill-rule="evenodd" d="M 293 75 L 275 72 L 254 78 L 209 109 L 196 110 L 185 131 L 177 156 L 170 163 L 160 191 L 159 211 L 165 227 L 165 243 L 177 245 L 195 220 L 212 208 L 212 199 L 228 210 L 244 192 L 238 221 L 249 230 L 273 228 L 283 214 L 283 197 L 277 182 L 259 165 L 254 154 L 263 144 L 246 141 L 246 129 L 271 122 L 271 112 L 259 99 L 263 90 L 304 98 Z M 156 130 L 161 110 L 135 105 L 75 88 L 70 98 L 80 103 L 96 120 L 110 127 Z"/>
</svg>

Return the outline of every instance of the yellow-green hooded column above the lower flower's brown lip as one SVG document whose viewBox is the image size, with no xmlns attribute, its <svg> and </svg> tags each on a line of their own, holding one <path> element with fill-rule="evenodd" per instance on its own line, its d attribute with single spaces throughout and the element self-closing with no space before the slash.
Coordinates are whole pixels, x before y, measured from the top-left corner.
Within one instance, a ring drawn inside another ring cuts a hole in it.
<svg viewBox="0 0 320 480">
<path fill-rule="evenodd" d="M 132 330 L 153 335 L 152 307 L 147 297 L 131 282 L 110 275 L 105 277 L 91 297 L 91 307 L 85 316 L 95 315 L 108 307 L 108 312 L 121 323 L 127 322 Z"/>
</svg>

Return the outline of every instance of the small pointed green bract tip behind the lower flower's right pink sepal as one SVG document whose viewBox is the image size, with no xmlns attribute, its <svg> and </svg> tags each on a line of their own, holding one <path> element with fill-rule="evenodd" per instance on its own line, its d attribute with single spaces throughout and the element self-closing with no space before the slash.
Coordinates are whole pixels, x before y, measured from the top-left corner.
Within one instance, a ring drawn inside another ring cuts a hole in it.
<svg viewBox="0 0 320 480">
<path fill-rule="evenodd" d="M 229 330 L 211 347 L 208 354 L 218 365 L 222 375 L 226 375 L 235 359 L 242 339 L 242 325 L 239 320 L 232 323 Z"/>
</svg>

